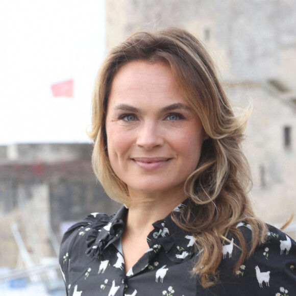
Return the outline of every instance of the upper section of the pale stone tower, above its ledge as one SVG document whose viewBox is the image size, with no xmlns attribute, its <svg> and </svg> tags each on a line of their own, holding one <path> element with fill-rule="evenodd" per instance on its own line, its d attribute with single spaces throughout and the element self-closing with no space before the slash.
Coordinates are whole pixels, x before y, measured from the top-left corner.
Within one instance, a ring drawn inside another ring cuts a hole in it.
<svg viewBox="0 0 296 296">
<path fill-rule="evenodd" d="M 178 26 L 209 46 L 227 80 L 295 76 L 294 1 L 106 0 L 106 9 L 107 47 L 135 30 Z"/>
</svg>

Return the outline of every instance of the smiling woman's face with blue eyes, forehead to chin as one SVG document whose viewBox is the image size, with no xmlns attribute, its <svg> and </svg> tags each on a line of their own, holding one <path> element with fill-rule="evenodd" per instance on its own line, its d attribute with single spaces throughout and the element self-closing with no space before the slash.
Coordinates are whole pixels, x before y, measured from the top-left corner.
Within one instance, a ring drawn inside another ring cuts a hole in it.
<svg viewBox="0 0 296 296">
<path fill-rule="evenodd" d="M 179 192 L 196 168 L 204 132 L 163 62 L 133 61 L 116 73 L 106 117 L 108 155 L 131 196 Z"/>
</svg>

